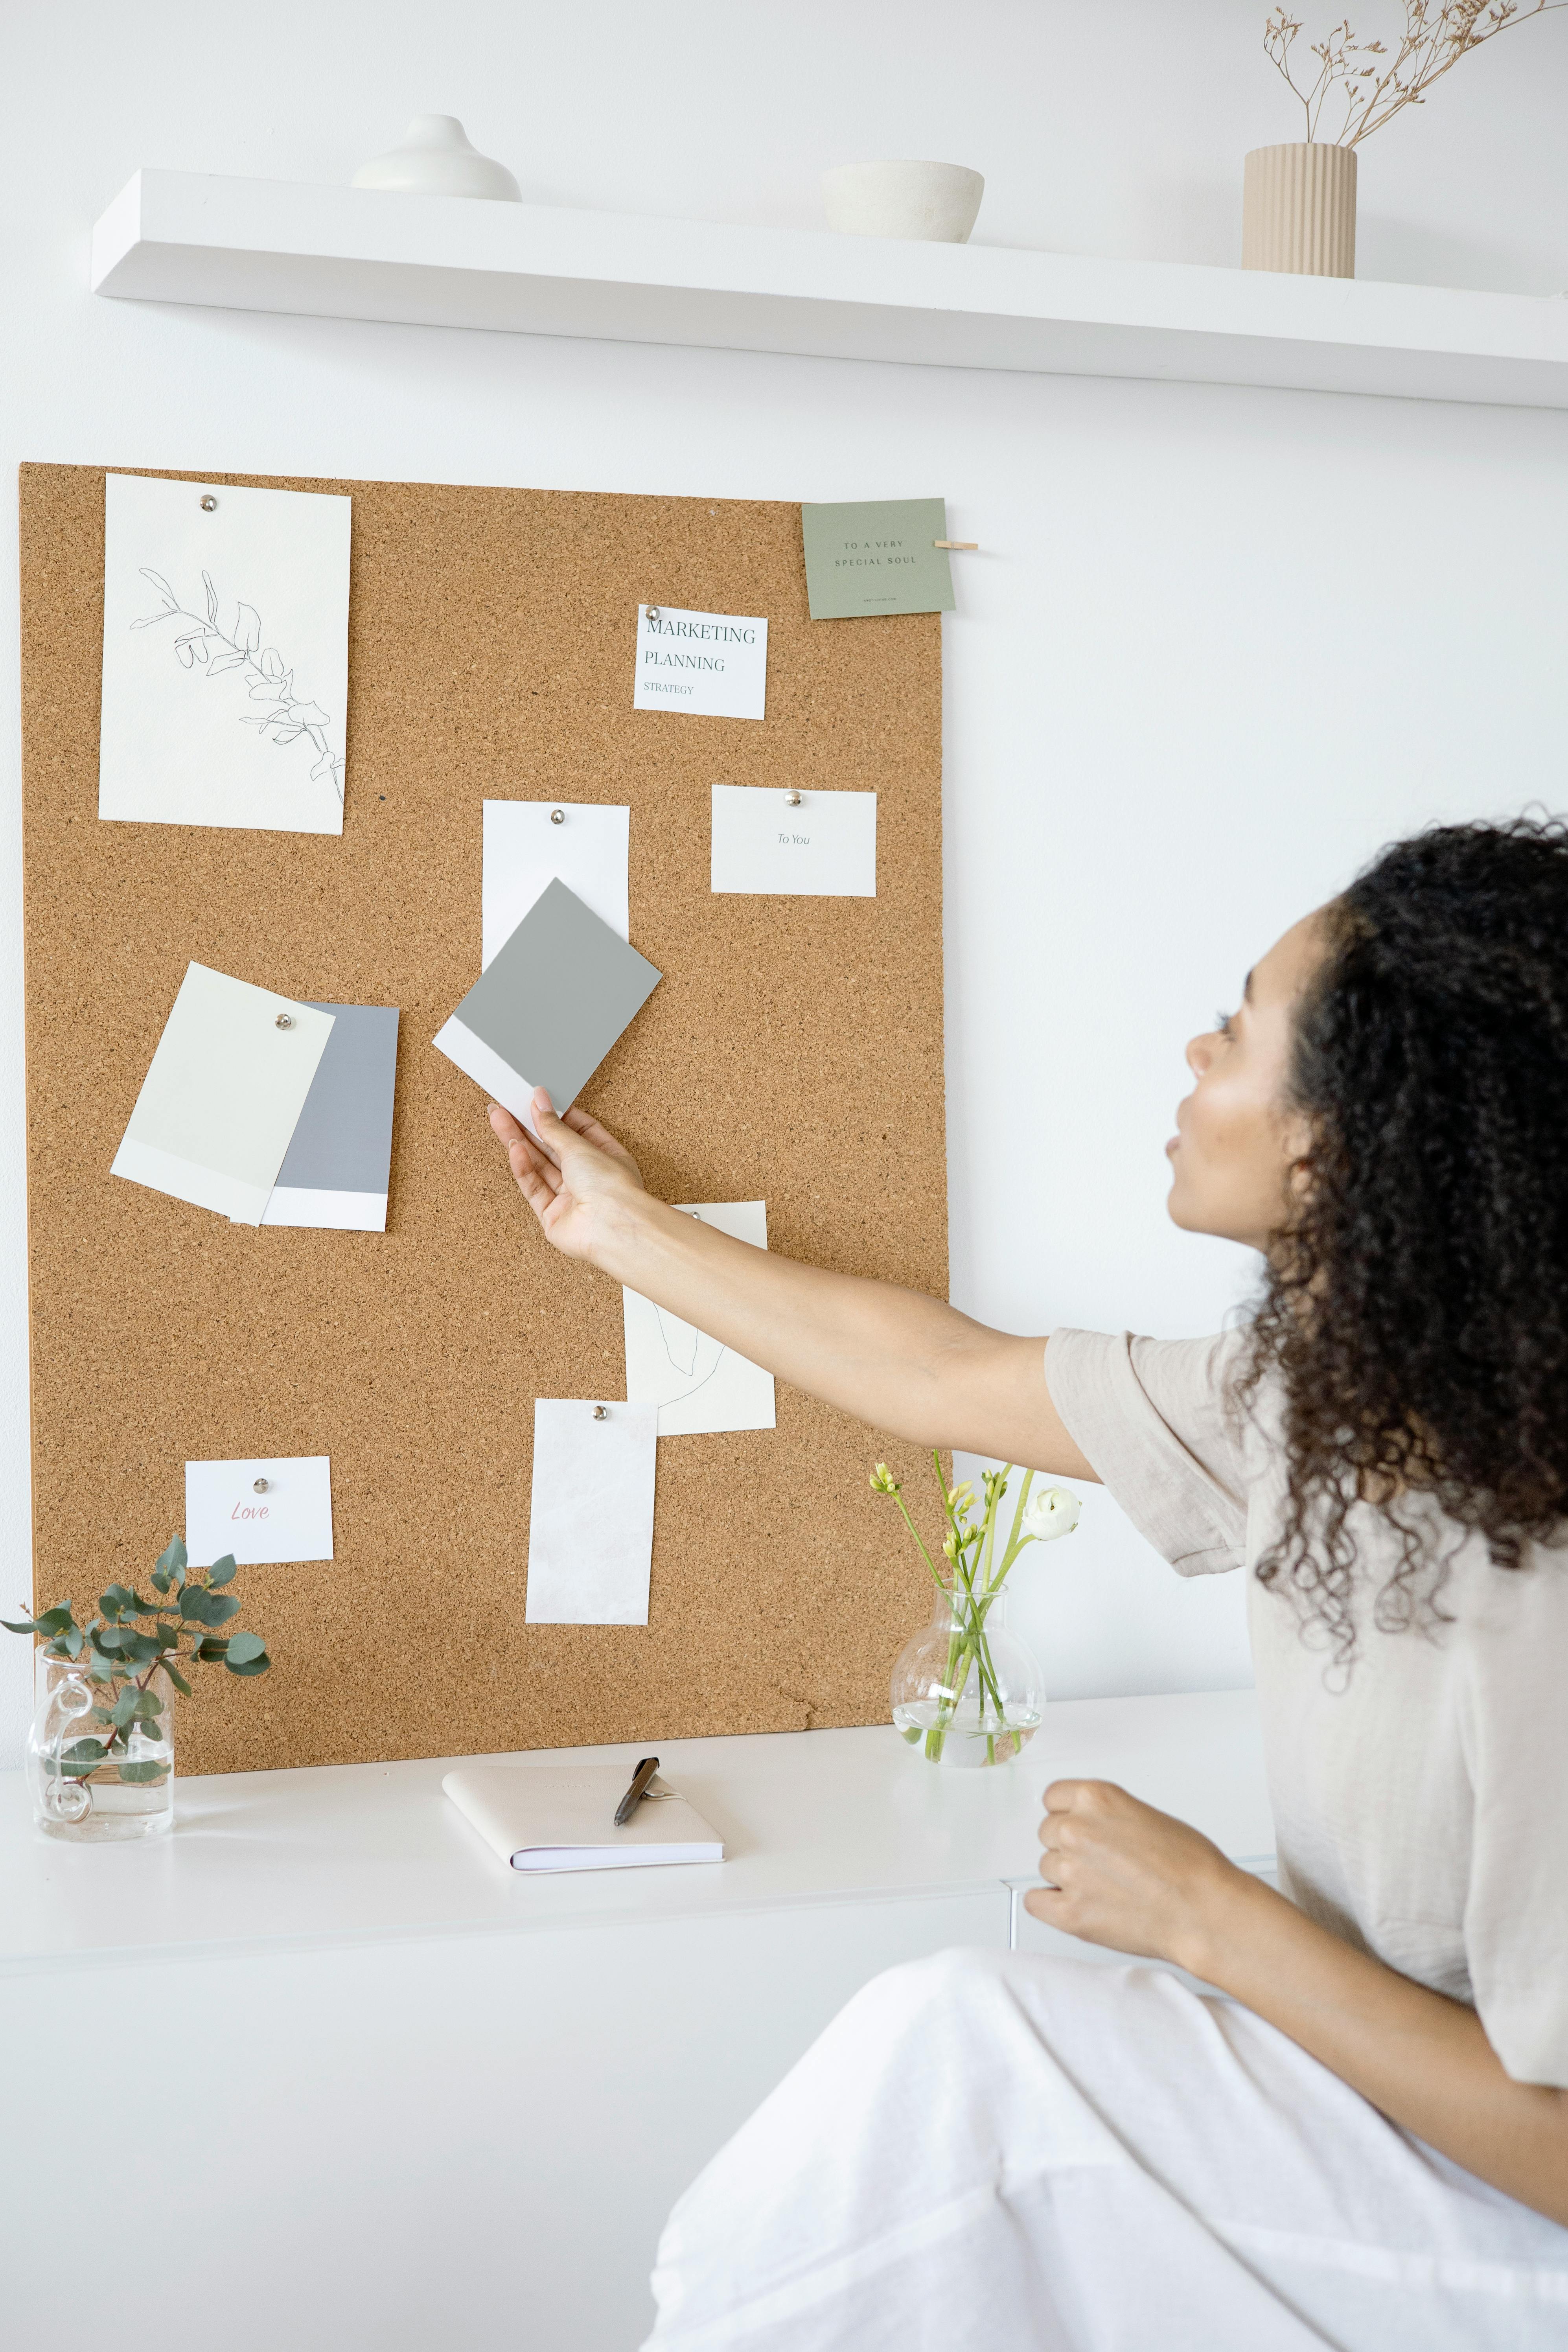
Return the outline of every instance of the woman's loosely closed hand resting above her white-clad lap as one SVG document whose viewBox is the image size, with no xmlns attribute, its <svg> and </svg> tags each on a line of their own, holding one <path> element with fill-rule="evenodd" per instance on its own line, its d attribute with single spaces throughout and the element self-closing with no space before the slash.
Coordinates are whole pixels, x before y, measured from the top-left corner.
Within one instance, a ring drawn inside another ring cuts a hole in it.
<svg viewBox="0 0 1568 2352">
<path fill-rule="evenodd" d="M 1053 1780 L 1039 1844 L 1046 1884 L 1023 1898 L 1034 1919 L 1194 1976 L 1204 1976 L 1218 1915 L 1251 1884 L 1185 1820 L 1112 1780 Z"/>
</svg>

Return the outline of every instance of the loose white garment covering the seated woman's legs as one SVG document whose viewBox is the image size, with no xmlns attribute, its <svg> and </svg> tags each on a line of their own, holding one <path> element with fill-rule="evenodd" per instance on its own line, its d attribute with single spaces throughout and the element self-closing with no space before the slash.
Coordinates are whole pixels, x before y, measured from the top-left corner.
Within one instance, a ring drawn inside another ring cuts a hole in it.
<svg viewBox="0 0 1568 2352">
<path fill-rule="evenodd" d="M 1568 2230 L 1164 1969 L 875 1978 L 686 2190 L 649 2352 L 1561 2352 Z"/>
</svg>

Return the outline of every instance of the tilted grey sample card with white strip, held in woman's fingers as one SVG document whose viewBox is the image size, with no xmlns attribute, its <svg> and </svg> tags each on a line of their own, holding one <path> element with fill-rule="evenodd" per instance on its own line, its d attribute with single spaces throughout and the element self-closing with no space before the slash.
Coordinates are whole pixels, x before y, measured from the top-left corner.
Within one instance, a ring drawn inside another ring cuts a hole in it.
<svg viewBox="0 0 1568 2352">
<path fill-rule="evenodd" d="M 567 1110 L 661 978 L 564 882 L 550 882 L 435 1044 L 534 1131 L 534 1089 Z"/>
</svg>

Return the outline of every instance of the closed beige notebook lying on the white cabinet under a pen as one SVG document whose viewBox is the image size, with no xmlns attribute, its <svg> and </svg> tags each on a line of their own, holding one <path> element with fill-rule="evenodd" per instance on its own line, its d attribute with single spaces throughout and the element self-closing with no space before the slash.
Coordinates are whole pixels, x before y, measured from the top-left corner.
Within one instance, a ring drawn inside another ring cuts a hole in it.
<svg viewBox="0 0 1568 2352">
<path fill-rule="evenodd" d="M 722 1863 L 724 1839 L 658 1773 L 623 1830 L 625 1764 L 465 1764 L 442 1788 L 512 1870 Z"/>
</svg>

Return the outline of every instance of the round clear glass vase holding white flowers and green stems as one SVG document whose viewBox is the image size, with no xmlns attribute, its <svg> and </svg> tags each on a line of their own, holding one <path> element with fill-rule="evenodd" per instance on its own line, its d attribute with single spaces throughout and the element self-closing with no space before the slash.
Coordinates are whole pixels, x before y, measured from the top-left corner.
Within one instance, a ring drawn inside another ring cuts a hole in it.
<svg viewBox="0 0 1568 2352">
<path fill-rule="evenodd" d="M 893 1722 L 929 1764 L 1011 1764 L 1046 1712 L 1032 1649 L 1006 1628 L 1006 1592 L 943 1592 L 898 1653 Z"/>
</svg>

